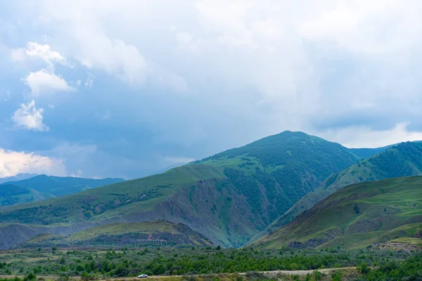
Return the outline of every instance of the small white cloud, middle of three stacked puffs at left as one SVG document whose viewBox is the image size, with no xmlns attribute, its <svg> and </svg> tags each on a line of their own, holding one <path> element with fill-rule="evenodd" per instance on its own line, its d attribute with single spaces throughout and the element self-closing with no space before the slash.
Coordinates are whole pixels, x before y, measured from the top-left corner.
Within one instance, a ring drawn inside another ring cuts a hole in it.
<svg viewBox="0 0 422 281">
<path fill-rule="evenodd" d="M 25 77 L 24 81 L 30 87 L 32 96 L 75 90 L 68 85 L 65 79 L 47 70 L 31 72 Z"/>
</svg>

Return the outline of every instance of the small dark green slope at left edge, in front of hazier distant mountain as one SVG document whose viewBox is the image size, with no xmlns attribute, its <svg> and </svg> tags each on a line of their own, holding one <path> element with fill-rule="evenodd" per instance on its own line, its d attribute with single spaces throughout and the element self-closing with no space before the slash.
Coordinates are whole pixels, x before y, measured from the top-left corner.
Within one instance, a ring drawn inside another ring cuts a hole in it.
<svg viewBox="0 0 422 281">
<path fill-rule="evenodd" d="M 21 188 L 12 183 L 0 184 L 0 207 L 26 202 L 34 202 L 54 197 L 48 193 L 38 192 L 32 188 Z"/>
</svg>

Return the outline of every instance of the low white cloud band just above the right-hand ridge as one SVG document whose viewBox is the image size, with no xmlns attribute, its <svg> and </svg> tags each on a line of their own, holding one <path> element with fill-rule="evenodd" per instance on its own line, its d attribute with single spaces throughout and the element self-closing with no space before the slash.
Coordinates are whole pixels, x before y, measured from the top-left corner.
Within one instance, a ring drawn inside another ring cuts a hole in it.
<svg viewBox="0 0 422 281">
<path fill-rule="evenodd" d="M 408 131 L 407 126 L 409 124 L 401 123 L 386 130 L 373 130 L 368 126 L 350 126 L 318 134 L 347 148 L 381 148 L 404 141 L 422 141 L 422 132 Z"/>
</svg>

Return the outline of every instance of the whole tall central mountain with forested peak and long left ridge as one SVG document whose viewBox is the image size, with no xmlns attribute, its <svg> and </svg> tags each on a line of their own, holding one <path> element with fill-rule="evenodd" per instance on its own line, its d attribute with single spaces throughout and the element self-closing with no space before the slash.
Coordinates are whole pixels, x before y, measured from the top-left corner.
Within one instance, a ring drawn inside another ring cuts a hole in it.
<svg viewBox="0 0 422 281">
<path fill-rule="evenodd" d="M 7 207 L 0 221 L 30 225 L 35 235 L 38 228 L 70 234 L 106 223 L 166 220 L 214 244 L 240 247 L 358 160 L 338 143 L 286 131 L 163 174 Z"/>
</svg>

